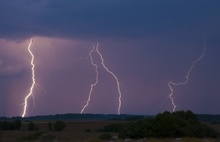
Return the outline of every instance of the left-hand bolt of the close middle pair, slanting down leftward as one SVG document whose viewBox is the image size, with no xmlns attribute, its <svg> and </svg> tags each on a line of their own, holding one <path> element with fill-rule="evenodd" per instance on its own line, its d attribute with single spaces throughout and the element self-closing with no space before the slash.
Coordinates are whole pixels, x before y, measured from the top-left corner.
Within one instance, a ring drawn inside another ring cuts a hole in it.
<svg viewBox="0 0 220 142">
<path fill-rule="evenodd" d="M 93 92 L 93 89 L 94 87 L 98 84 L 99 82 L 99 72 L 98 72 L 98 65 L 94 63 L 94 60 L 93 60 L 93 57 L 92 57 L 92 53 L 95 51 L 95 46 L 93 45 L 93 49 L 90 51 L 89 53 L 89 57 L 90 57 L 90 61 L 91 61 L 91 64 L 95 67 L 95 72 L 96 72 L 96 80 L 94 83 L 91 84 L 91 87 L 90 87 L 90 91 L 89 91 L 89 97 L 88 97 L 88 100 L 85 104 L 85 106 L 83 107 L 83 109 L 81 110 L 81 114 L 84 112 L 84 110 L 86 109 L 86 107 L 89 105 L 89 102 L 91 100 L 91 96 L 92 96 L 92 92 Z"/>
</svg>

